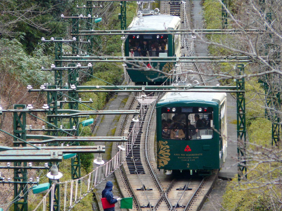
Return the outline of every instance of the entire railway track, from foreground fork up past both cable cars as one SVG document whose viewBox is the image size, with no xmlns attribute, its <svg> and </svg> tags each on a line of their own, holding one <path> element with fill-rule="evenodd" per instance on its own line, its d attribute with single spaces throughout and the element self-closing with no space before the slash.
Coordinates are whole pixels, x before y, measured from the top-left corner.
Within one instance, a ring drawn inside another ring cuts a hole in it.
<svg viewBox="0 0 282 211">
<path fill-rule="evenodd" d="M 160 11 L 181 17 L 182 29 L 188 28 L 186 3 L 180 1 L 161 1 Z M 177 12 L 176 12 L 177 11 Z M 189 13 L 190 11 L 188 11 Z M 188 42 L 185 35 L 181 38 L 182 54 L 192 55 L 193 45 Z M 176 68 L 177 82 L 206 85 L 205 79 L 197 74 L 200 69 L 195 63 L 182 63 Z M 178 78 L 179 77 L 179 78 Z M 157 93 L 142 93 L 147 97 L 158 98 Z M 141 95 L 141 94 L 140 94 Z M 211 176 L 190 178 L 189 175 L 180 176 L 176 174 L 166 175 L 163 170 L 159 171 L 156 164 L 156 116 L 155 102 L 140 104 L 135 98 L 131 109 L 139 109 L 145 106 L 146 115 L 138 122 L 141 124 L 137 139 L 133 144 L 132 151 L 126 158 L 123 167 L 115 171 L 116 180 L 123 197 L 133 197 L 133 210 L 200 210 L 206 195 L 211 191 L 218 171 L 215 170 Z M 127 115 L 122 136 L 127 136 L 134 128 L 136 122 L 133 115 Z M 114 143 L 115 144 L 115 143 Z M 117 143 L 116 143 L 117 145 Z M 113 147 L 117 149 L 117 147 Z M 128 150 L 128 149 L 127 149 Z M 113 151 L 114 152 L 114 151 Z"/>
</svg>

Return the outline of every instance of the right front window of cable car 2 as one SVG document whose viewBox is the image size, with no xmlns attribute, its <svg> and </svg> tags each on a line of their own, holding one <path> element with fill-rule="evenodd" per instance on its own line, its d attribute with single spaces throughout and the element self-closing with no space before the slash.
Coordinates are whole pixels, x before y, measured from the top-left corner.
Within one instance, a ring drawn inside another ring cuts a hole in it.
<svg viewBox="0 0 282 211">
<path fill-rule="evenodd" d="M 188 115 L 189 139 L 213 138 L 213 115 L 212 113 L 195 113 Z"/>
</svg>

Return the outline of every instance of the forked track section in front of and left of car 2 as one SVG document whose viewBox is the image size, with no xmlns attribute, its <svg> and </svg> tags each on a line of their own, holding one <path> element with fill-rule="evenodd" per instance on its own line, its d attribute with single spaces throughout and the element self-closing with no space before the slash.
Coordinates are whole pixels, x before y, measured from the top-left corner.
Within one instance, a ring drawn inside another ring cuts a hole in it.
<svg viewBox="0 0 282 211">
<path fill-rule="evenodd" d="M 138 101 L 134 100 L 131 109 L 139 106 Z M 147 107 L 146 115 L 140 120 L 141 131 L 133 150 L 123 168 L 115 172 L 122 195 L 134 198 L 134 210 L 198 210 L 217 172 L 206 178 L 188 179 L 187 175 L 165 175 L 158 171 L 154 150 L 156 117 L 153 108 L 154 104 Z M 133 115 L 127 116 L 123 135 L 127 135 L 133 128 L 133 118 Z"/>
</svg>

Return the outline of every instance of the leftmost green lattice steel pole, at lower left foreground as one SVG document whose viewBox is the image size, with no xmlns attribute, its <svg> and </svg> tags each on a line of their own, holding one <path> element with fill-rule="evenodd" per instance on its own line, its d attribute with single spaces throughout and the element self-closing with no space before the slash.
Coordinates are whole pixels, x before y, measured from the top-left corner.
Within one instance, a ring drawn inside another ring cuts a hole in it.
<svg viewBox="0 0 282 211">
<path fill-rule="evenodd" d="M 25 105 L 14 105 L 14 109 L 25 109 Z M 13 129 L 14 136 L 26 140 L 26 113 L 13 112 Z M 19 139 L 14 138 L 14 141 Z M 26 143 L 14 143 L 14 147 L 26 147 Z M 27 169 L 22 168 L 27 166 L 27 162 L 14 162 L 14 166 L 19 168 L 14 169 L 14 211 L 27 211 Z M 18 182 L 18 183 L 17 183 Z"/>
</svg>

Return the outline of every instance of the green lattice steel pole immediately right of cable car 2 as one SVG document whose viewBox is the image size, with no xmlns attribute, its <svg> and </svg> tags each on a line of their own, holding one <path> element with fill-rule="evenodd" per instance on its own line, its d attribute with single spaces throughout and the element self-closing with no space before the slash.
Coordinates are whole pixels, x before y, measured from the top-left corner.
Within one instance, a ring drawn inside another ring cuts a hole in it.
<svg viewBox="0 0 282 211">
<path fill-rule="evenodd" d="M 237 75 L 244 74 L 244 64 L 237 64 L 239 72 Z M 246 150 L 246 105 L 245 105 L 245 78 L 236 79 L 237 99 L 237 152 L 238 152 L 238 181 L 247 178 L 247 162 L 245 161 Z"/>
</svg>

